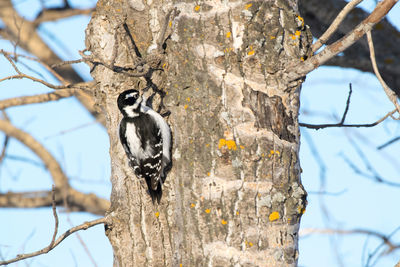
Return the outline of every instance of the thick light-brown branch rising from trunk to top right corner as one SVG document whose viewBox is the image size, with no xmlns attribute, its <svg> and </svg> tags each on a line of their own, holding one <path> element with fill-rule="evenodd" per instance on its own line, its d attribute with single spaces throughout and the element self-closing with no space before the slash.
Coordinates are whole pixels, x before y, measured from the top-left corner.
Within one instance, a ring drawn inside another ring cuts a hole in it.
<svg viewBox="0 0 400 267">
<path fill-rule="evenodd" d="M 305 76 L 307 73 L 318 68 L 332 57 L 350 47 L 366 32 L 370 31 L 375 24 L 382 20 L 397 2 L 398 0 L 384 0 L 379 2 L 374 11 L 343 38 L 326 46 L 323 51 L 308 58 L 306 61 L 300 61 L 295 66 L 292 66 L 292 72 L 288 74 L 290 80 L 296 80 Z"/>
</svg>

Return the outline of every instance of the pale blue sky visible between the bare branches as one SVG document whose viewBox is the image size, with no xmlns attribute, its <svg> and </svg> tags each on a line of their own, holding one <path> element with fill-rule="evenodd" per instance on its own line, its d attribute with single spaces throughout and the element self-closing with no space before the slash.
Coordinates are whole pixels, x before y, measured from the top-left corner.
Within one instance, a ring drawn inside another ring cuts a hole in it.
<svg viewBox="0 0 400 267">
<path fill-rule="evenodd" d="M 40 11 L 35 0 L 13 1 L 20 14 L 33 19 Z M 70 1 L 76 8 L 95 5 L 95 1 Z M 45 1 L 46 6 L 59 5 L 59 1 Z M 364 1 L 362 7 L 372 10 L 375 1 Z M 400 28 L 400 4 L 389 13 L 389 20 Z M 40 28 L 41 36 L 65 60 L 79 58 L 84 49 L 84 29 L 89 17 L 79 16 L 46 23 Z M 0 22 L 0 26 L 3 26 Z M 0 40 L 0 49 L 13 51 L 8 41 Z M 17 52 L 23 53 L 22 50 Z M 379 53 L 379 51 L 376 51 Z M 24 60 L 22 60 L 24 61 Z M 49 82 L 56 81 L 35 63 Z M 0 76 L 14 74 L 9 63 L 0 57 Z M 399 66 L 400 67 L 400 66 Z M 20 67 L 28 74 L 31 70 Z M 84 64 L 74 65 L 79 73 L 90 80 Z M 377 79 L 368 73 L 352 69 L 320 67 L 307 76 L 302 87 L 300 121 L 306 123 L 335 123 L 340 120 L 352 83 L 353 94 L 346 119 L 347 123 L 371 123 L 392 110 Z M 49 92 L 41 84 L 29 80 L 0 83 L 0 99 Z M 95 192 L 109 198 L 111 192 L 108 136 L 100 125 L 73 98 L 57 102 L 13 107 L 7 110 L 12 123 L 31 133 L 61 163 L 74 188 Z M 386 120 L 374 128 L 332 128 L 319 131 L 301 130 L 300 160 L 302 182 L 309 192 L 308 206 L 302 218 L 302 231 L 307 229 L 369 229 L 390 234 L 400 226 L 400 187 L 377 183 L 357 175 L 348 164 L 368 173 L 367 159 L 384 179 L 400 183 L 400 141 L 384 149 L 377 147 L 400 136 L 397 121 Z M 4 135 L 0 134 L 0 144 Z M 360 157 L 360 153 L 364 155 Z M 0 192 L 49 190 L 51 177 L 32 152 L 11 139 L 7 157 L 0 165 Z M 327 192 L 318 194 L 318 192 Z M 87 213 L 64 213 L 58 209 L 59 233 L 97 217 Z M 0 209 L 0 258 L 9 259 L 18 253 L 31 252 L 48 245 L 53 234 L 54 219 L 50 208 Z M 112 249 L 104 235 L 102 225 L 79 232 L 85 247 L 76 234 L 68 237 L 50 253 L 10 266 L 112 266 Z M 400 231 L 393 235 L 400 243 Z M 366 235 L 302 236 L 299 266 L 365 266 L 368 255 L 381 244 Z M 384 252 L 379 250 L 378 255 Z M 374 263 L 376 257 L 370 259 Z M 394 266 L 400 259 L 395 251 L 383 256 L 374 266 Z"/>
</svg>

